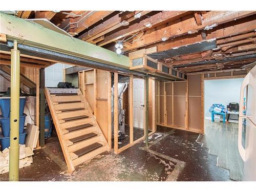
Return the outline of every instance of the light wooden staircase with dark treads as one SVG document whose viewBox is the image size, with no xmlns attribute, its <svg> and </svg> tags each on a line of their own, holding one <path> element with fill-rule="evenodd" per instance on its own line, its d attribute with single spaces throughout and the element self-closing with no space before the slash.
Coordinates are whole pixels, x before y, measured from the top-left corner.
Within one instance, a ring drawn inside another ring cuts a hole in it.
<svg viewBox="0 0 256 192">
<path fill-rule="evenodd" d="M 70 172 L 76 165 L 110 151 L 79 89 L 46 88 L 45 95 Z"/>
</svg>

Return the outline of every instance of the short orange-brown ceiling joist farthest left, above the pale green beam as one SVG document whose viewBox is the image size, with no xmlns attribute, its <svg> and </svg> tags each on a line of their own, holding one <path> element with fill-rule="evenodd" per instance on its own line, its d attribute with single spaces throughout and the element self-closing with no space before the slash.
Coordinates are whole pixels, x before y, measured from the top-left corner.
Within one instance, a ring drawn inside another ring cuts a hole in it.
<svg viewBox="0 0 256 192">
<path fill-rule="evenodd" d="M 79 17 L 76 27 L 70 29 L 69 32 L 80 33 L 113 12 L 114 11 L 93 11 L 90 15 Z"/>
</svg>

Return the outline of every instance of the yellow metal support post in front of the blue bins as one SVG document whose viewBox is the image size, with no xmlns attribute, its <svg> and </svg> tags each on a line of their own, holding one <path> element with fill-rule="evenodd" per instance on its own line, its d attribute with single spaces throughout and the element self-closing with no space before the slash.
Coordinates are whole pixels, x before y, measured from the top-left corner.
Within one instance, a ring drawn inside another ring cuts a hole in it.
<svg viewBox="0 0 256 192">
<path fill-rule="evenodd" d="M 18 181 L 19 167 L 19 73 L 20 62 L 17 41 L 11 50 L 11 130 L 10 130 L 10 156 L 9 180 Z"/>
</svg>

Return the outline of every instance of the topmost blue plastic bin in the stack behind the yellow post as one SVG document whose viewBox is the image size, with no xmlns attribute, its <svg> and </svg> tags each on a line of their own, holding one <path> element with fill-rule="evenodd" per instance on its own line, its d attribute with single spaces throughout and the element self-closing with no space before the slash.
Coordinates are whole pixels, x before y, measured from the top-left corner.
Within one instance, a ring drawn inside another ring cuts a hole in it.
<svg viewBox="0 0 256 192">
<path fill-rule="evenodd" d="M 19 116 L 22 116 L 24 113 L 26 98 L 19 98 Z M 0 108 L 4 118 L 10 117 L 10 106 L 11 98 L 10 97 L 0 97 Z"/>
</svg>

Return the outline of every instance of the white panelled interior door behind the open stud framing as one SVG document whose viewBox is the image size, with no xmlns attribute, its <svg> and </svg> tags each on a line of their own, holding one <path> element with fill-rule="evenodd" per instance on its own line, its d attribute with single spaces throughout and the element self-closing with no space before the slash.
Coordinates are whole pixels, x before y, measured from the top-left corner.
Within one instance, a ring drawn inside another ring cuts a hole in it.
<svg viewBox="0 0 256 192">
<path fill-rule="evenodd" d="M 143 129 L 144 79 L 133 80 L 133 125 Z"/>
</svg>

